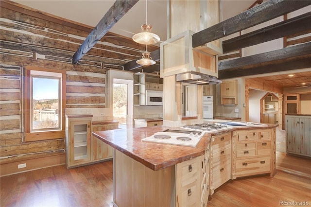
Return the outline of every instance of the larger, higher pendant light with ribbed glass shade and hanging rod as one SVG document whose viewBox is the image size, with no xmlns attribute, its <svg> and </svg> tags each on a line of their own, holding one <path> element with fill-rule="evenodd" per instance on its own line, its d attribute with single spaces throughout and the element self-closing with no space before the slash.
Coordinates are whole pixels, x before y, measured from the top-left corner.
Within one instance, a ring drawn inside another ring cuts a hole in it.
<svg viewBox="0 0 311 207">
<path fill-rule="evenodd" d="M 141 33 L 138 33 L 136 35 L 133 35 L 133 40 L 139 44 L 143 44 L 143 45 L 151 45 L 151 44 L 155 44 L 158 41 L 160 41 L 160 37 L 158 35 L 155 35 L 154 33 L 151 33 L 151 24 L 147 23 L 147 14 L 148 14 L 148 7 L 147 7 L 148 3 L 146 0 L 146 24 L 141 25 Z"/>
</svg>

